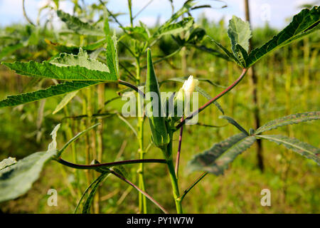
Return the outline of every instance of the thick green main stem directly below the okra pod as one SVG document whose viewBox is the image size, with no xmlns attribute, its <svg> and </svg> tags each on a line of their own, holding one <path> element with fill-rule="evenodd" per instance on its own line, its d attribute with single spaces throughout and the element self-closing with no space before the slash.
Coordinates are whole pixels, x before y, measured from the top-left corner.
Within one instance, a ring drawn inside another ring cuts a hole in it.
<svg viewBox="0 0 320 228">
<path fill-rule="evenodd" d="M 174 161 L 172 160 L 172 142 L 173 142 L 173 133 L 170 133 L 170 142 L 166 146 L 166 149 L 163 151 L 164 155 L 166 156 L 166 162 L 169 169 L 169 176 L 172 185 L 172 192 L 174 194 L 174 201 L 176 202 L 176 212 L 177 214 L 182 214 L 182 205 L 181 199 L 179 198 L 179 187 L 178 187 L 178 179 L 176 177 L 176 172 L 174 169 Z"/>
</svg>

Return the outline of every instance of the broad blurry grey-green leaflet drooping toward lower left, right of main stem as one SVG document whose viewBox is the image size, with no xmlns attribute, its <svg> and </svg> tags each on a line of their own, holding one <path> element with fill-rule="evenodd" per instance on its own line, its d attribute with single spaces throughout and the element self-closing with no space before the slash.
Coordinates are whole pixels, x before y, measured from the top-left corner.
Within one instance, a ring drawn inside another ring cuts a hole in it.
<svg viewBox="0 0 320 228">
<path fill-rule="evenodd" d="M 233 135 L 193 157 L 188 162 L 188 169 L 191 171 L 203 170 L 214 175 L 221 175 L 224 170 L 228 169 L 230 162 L 233 162 L 235 157 L 247 150 L 253 142 L 255 142 L 253 136 L 247 136 L 244 133 Z"/>
</svg>

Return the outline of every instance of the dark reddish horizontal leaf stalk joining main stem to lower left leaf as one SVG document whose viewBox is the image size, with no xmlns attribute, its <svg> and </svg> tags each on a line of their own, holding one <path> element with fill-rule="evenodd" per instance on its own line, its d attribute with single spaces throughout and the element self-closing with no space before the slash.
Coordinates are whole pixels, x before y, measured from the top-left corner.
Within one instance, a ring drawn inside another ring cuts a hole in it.
<svg viewBox="0 0 320 228">
<path fill-rule="evenodd" d="M 72 167 L 78 170 L 96 170 L 99 167 L 112 167 L 116 165 L 128 165 L 128 164 L 137 164 L 137 163 L 166 163 L 166 160 L 164 159 L 138 159 L 138 160 L 124 160 L 119 162 L 100 163 L 95 165 L 79 165 L 79 164 L 74 164 L 72 162 L 63 160 L 61 157 L 56 159 L 56 161 L 62 165 Z"/>
</svg>

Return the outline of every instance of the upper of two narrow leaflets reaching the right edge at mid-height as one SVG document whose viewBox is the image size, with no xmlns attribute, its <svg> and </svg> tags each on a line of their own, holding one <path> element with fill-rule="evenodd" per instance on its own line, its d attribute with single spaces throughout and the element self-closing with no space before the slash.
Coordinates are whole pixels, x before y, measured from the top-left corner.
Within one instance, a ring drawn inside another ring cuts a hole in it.
<svg viewBox="0 0 320 228">
<path fill-rule="evenodd" d="M 255 131 L 255 135 L 259 135 L 260 133 L 264 133 L 267 130 L 272 130 L 285 125 L 290 125 L 294 123 L 297 124 L 297 123 L 302 123 L 309 120 L 319 120 L 319 119 L 320 119 L 320 111 L 287 115 L 282 118 L 271 120 L 270 122 L 265 123 Z"/>
</svg>

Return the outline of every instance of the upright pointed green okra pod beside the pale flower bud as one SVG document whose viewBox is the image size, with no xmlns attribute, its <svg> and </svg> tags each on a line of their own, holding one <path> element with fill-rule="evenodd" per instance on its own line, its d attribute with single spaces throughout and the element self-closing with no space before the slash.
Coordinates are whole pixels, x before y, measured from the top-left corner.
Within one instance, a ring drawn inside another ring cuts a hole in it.
<svg viewBox="0 0 320 228">
<path fill-rule="evenodd" d="M 146 100 L 150 100 L 147 106 L 147 116 L 152 133 L 152 140 L 156 147 L 163 149 L 169 144 L 170 138 L 166 128 L 166 118 L 161 115 L 161 96 L 159 83 L 154 72 L 151 51 L 148 48 L 146 55 Z"/>
</svg>

